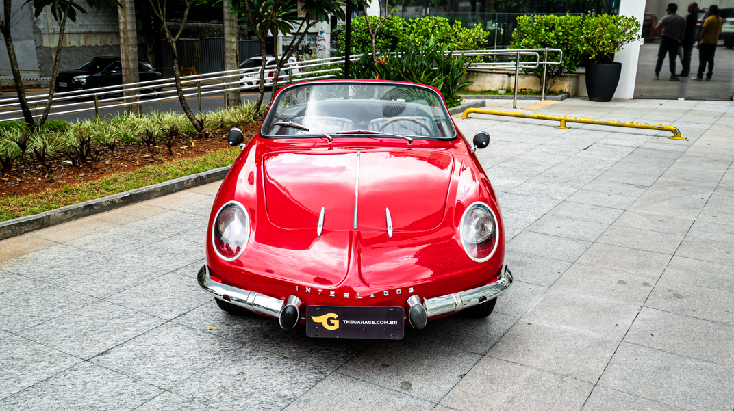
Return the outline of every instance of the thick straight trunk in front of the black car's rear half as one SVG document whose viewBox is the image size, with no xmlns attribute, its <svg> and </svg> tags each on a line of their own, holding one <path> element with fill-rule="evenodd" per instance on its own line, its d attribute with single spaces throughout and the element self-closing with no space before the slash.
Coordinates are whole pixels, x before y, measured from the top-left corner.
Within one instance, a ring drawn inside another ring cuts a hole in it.
<svg viewBox="0 0 734 411">
<path fill-rule="evenodd" d="M 135 24 L 135 1 L 120 0 L 122 7 L 117 9 L 117 18 L 120 22 L 120 59 L 123 65 L 123 84 L 137 83 L 140 81 L 138 73 L 137 56 L 137 25 Z M 126 87 L 127 89 L 128 87 Z M 138 91 L 123 92 L 126 103 L 139 101 Z M 131 104 L 125 106 L 126 114 L 140 114 L 141 105 Z"/>
</svg>

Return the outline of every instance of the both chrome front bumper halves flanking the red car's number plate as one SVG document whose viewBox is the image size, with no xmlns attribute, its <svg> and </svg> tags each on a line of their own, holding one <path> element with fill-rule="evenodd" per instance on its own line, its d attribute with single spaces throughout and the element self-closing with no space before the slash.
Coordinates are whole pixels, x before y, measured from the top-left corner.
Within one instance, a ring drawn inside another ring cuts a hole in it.
<svg viewBox="0 0 734 411">
<path fill-rule="evenodd" d="M 201 270 L 199 270 L 197 281 L 204 291 L 216 298 L 219 298 L 219 300 L 228 301 L 236 306 L 247 308 L 255 313 L 280 318 L 280 313 L 286 306 L 286 300 L 268 297 L 267 295 L 262 295 L 258 292 L 239 289 L 237 287 L 228 286 L 212 280 L 206 264 L 201 267 Z M 429 318 L 441 314 L 454 313 L 492 300 L 503 293 L 511 285 L 512 273 L 510 273 L 510 270 L 505 266 L 500 279 L 492 284 L 487 284 L 486 286 L 480 286 L 475 289 L 468 289 L 454 294 L 442 295 L 440 297 L 426 298 L 423 306 L 426 308 Z"/>
</svg>

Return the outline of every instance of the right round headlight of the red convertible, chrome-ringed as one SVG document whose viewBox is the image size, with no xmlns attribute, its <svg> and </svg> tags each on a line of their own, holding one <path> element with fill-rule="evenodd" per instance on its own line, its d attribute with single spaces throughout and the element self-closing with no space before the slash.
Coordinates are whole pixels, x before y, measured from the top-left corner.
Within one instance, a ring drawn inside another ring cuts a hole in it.
<svg viewBox="0 0 734 411">
<path fill-rule="evenodd" d="M 497 218 L 487 204 L 477 201 L 464 211 L 459 227 L 462 245 L 470 259 L 484 262 L 497 249 Z"/>
</svg>

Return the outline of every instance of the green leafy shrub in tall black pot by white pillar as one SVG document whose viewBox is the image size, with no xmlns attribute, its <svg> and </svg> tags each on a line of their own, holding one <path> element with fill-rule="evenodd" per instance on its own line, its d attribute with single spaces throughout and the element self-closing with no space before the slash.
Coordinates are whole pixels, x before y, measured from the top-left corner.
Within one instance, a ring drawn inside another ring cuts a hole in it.
<svg viewBox="0 0 734 411">
<path fill-rule="evenodd" d="M 622 74 L 622 63 L 614 55 L 622 46 L 640 39 L 640 23 L 622 15 L 592 15 L 584 19 L 586 90 L 589 100 L 611 101 Z"/>
</svg>

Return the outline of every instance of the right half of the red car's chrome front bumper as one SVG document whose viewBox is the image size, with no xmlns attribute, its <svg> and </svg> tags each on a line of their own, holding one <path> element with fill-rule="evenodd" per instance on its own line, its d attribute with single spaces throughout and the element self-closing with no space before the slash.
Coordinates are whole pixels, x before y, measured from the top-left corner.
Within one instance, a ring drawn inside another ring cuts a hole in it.
<svg viewBox="0 0 734 411">
<path fill-rule="evenodd" d="M 476 287 L 475 289 L 468 289 L 466 291 L 457 292 L 449 295 L 442 295 L 435 298 L 427 298 L 424 302 L 426 311 L 428 311 L 429 318 L 441 314 L 449 314 L 457 311 L 462 311 L 465 308 L 473 307 L 482 303 L 486 303 L 493 298 L 498 297 L 509 286 L 512 285 L 512 273 L 507 266 L 502 267 L 502 275 L 500 278 L 492 284 L 486 286 Z"/>
</svg>

